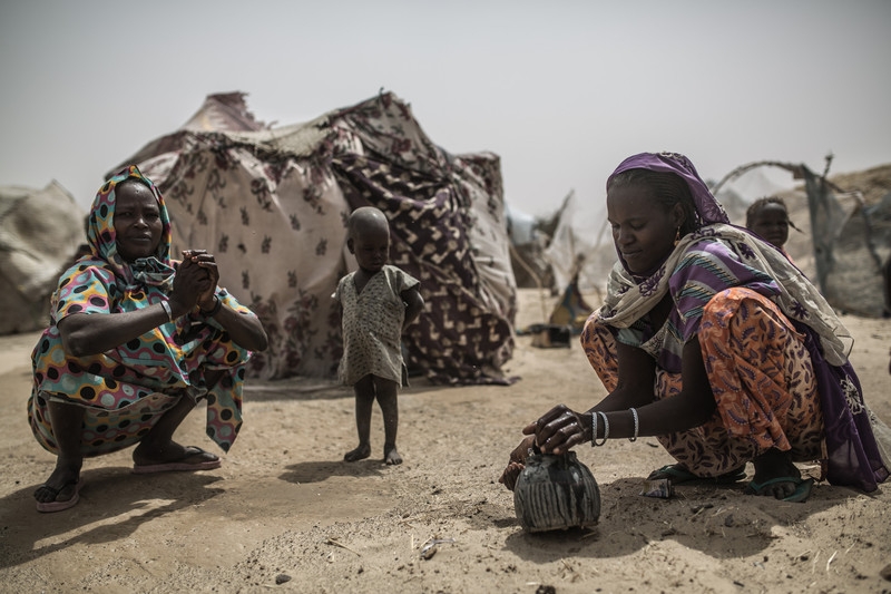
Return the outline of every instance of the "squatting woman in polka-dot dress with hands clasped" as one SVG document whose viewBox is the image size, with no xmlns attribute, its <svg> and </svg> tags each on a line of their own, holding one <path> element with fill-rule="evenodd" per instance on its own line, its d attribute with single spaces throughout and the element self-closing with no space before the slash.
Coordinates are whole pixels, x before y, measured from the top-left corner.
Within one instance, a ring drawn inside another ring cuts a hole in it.
<svg viewBox="0 0 891 594">
<path fill-rule="evenodd" d="M 32 353 L 28 420 L 57 456 L 35 491 L 39 512 L 77 504 L 85 457 L 133 445 L 134 473 L 218 467 L 219 457 L 175 442 L 174 431 L 204 398 L 207 435 L 228 451 L 245 364 L 267 343 L 257 317 L 217 286 L 212 254 L 170 260 L 164 198 L 136 166 L 99 189 L 87 238 L 90 254 L 59 280 Z"/>
</svg>

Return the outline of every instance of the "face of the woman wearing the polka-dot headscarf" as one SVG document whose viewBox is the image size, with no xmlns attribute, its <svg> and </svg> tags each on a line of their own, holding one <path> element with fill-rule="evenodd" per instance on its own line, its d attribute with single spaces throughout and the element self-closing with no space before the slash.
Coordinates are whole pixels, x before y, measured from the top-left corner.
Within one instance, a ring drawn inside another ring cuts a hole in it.
<svg viewBox="0 0 891 594">
<path fill-rule="evenodd" d="M 143 183 L 129 182 L 115 191 L 115 235 L 127 262 L 156 254 L 164 223 L 155 195 Z"/>
</svg>

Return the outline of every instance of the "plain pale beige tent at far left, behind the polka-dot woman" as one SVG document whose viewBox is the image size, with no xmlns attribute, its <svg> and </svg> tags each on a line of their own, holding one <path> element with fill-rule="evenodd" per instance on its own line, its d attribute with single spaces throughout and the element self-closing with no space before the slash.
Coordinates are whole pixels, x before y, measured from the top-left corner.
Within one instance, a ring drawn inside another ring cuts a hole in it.
<svg viewBox="0 0 891 594">
<path fill-rule="evenodd" d="M 85 216 L 57 182 L 43 189 L 0 187 L 0 334 L 49 322 L 59 274 L 85 241 Z"/>
</svg>

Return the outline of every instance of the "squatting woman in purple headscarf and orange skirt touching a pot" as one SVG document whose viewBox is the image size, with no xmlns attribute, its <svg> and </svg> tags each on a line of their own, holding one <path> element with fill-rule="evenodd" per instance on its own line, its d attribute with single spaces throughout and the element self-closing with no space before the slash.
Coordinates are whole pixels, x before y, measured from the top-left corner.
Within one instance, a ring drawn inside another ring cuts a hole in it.
<svg viewBox="0 0 891 594">
<path fill-rule="evenodd" d="M 772 245 L 730 224 L 693 164 L 674 153 L 625 159 L 607 181 L 618 261 L 581 343 L 609 392 L 586 412 L 552 408 L 523 428 L 501 481 L 530 448 L 654 436 L 675 464 L 648 478 L 732 484 L 804 502 L 813 479 L 871 491 L 888 477 L 853 340 L 807 279 Z"/>
</svg>

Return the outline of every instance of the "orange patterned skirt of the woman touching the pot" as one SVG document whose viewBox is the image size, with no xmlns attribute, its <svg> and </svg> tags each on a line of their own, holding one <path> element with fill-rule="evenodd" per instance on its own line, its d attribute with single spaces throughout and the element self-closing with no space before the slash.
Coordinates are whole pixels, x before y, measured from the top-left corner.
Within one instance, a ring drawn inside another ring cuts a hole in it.
<svg viewBox="0 0 891 594">
<path fill-rule="evenodd" d="M 658 436 L 681 465 L 703 477 L 740 468 L 771 448 L 795 461 L 824 458 L 823 413 L 803 337 L 780 309 L 748 289 L 716 294 L 697 334 L 717 410 L 704 425 Z M 616 343 L 593 314 L 581 334 L 608 391 L 618 382 Z M 654 398 L 681 391 L 681 373 L 657 370 Z"/>
</svg>

